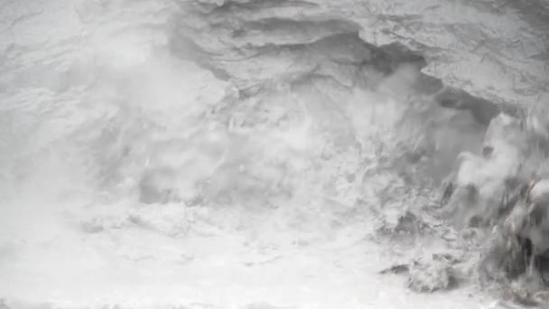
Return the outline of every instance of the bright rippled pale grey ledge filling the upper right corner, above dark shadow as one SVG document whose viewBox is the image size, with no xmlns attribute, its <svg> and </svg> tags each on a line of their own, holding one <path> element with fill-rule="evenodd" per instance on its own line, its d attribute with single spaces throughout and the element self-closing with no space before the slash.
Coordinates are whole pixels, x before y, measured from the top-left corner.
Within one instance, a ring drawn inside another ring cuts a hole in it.
<svg viewBox="0 0 549 309">
<path fill-rule="evenodd" d="M 429 63 L 423 72 L 452 87 L 495 101 L 547 100 L 547 1 L 370 1 L 360 8 L 352 15 L 369 25 L 365 41 L 422 51 Z"/>
</svg>

